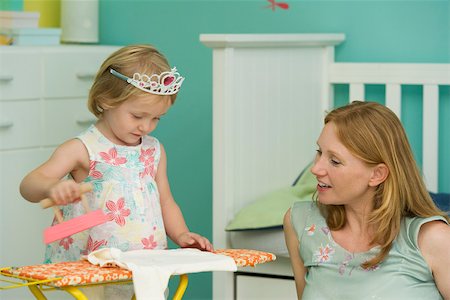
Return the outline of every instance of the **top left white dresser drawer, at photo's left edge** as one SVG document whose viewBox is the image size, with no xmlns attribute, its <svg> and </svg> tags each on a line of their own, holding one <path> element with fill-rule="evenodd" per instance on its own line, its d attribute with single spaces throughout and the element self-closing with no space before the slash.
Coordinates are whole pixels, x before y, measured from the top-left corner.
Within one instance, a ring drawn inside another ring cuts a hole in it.
<svg viewBox="0 0 450 300">
<path fill-rule="evenodd" d="M 40 56 L 35 51 L 0 47 L 0 100 L 39 98 Z"/>
</svg>

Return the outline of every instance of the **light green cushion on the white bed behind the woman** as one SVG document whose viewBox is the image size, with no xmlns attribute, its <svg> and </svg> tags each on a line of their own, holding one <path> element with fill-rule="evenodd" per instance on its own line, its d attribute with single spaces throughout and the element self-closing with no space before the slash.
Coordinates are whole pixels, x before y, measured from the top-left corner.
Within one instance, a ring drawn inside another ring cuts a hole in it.
<svg viewBox="0 0 450 300">
<path fill-rule="evenodd" d="M 286 211 L 295 201 L 311 201 L 317 179 L 306 167 L 294 186 L 281 188 L 262 195 L 242 208 L 231 220 L 226 231 L 280 227 Z"/>
</svg>

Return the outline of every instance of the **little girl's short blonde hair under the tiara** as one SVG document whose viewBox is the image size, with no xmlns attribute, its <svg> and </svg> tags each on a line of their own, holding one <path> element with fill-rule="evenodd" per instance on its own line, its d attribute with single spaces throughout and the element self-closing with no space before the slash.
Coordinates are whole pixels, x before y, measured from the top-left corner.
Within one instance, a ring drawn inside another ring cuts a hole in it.
<svg viewBox="0 0 450 300">
<path fill-rule="evenodd" d="M 146 93 L 115 77 L 110 69 L 131 78 L 134 73 L 150 76 L 171 70 L 164 55 L 151 45 L 130 45 L 115 51 L 101 65 L 89 92 L 88 108 L 96 117 L 100 117 L 105 108 L 116 107 L 131 96 Z M 173 104 L 176 96 L 161 96 L 161 99 L 169 99 Z"/>
</svg>

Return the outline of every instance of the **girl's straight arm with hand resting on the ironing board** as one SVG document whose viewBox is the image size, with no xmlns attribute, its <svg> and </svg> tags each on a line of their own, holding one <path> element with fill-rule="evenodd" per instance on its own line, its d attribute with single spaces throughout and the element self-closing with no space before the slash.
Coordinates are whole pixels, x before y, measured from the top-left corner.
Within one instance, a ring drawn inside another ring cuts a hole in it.
<svg viewBox="0 0 450 300">
<path fill-rule="evenodd" d="M 156 172 L 156 184 L 158 185 L 161 210 L 167 235 L 180 247 L 191 247 L 212 251 L 213 247 L 207 238 L 189 231 L 183 213 L 170 191 L 169 180 L 167 178 L 166 151 L 162 144 L 160 144 L 160 148 L 161 158 L 158 165 L 158 171 Z"/>
</svg>

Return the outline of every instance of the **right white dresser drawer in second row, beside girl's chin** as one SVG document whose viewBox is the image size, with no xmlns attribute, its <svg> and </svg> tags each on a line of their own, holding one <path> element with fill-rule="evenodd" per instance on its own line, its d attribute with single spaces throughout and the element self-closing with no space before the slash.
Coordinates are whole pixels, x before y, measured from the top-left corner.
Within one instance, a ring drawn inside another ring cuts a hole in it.
<svg viewBox="0 0 450 300">
<path fill-rule="evenodd" d="M 44 141 L 56 146 L 76 137 L 97 121 L 89 112 L 85 98 L 44 101 Z"/>
</svg>

